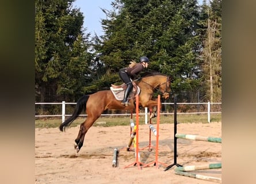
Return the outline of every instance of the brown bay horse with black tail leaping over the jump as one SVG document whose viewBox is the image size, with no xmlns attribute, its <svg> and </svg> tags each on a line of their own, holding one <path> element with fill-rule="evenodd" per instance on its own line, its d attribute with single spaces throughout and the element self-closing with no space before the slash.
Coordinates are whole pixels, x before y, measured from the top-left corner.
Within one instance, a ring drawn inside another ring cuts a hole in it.
<svg viewBox="0 0 256 184">
<path fill-rule="evenodd" d="M 157 90 L 162 94 L 162 97 L 167 99 L 170 95 L 170 76 L 161 74 L 159 72 L 147 73 L 142 76 L 140 81 L 133 81 L 140 88 L 139 106 L 155 108 L 157 106 L 157 99 L 152 99 L 153 93 Z M 60 131 L 66 131 L 68 126 L 82 113 L 83 110 L 87 113 L 87 118 L 80 125 L 77 139 L 75 139 L 75 150 L 79 152 L 83 146 L 85 135 L 94 122 L 101 116 L 102 112 L 107 109 L 112 110 L 133 110 L 136 108 L 135 95 L 129 98 L 128 106 L 121 104 L 121 101 L 116 99 L 111 90 L 97 91 L 96 93 L 83 95 L 78 99 L 75 106 L 74 113 L 60 124 Z M 150 117 L 151 118 L 151 117 Z"/>
</svg>

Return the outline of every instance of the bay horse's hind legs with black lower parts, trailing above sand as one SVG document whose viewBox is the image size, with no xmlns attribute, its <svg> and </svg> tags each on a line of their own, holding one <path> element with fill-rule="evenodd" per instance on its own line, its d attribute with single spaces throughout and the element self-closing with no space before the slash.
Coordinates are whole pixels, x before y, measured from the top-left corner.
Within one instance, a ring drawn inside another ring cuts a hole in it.
<svg viewBox="0 0 256 184">
<path fill-rule="evenodd" d="M 100 117 L 100 116 L 98 116 L 98 117 Z M 75 139 L 75 143 L 76 144 L 74 145 L 75 146 L 75 150 L 77 152 L 79 152 L 81 147 L 83 146 L 83 141 L 85 139 L 85 135 L 86 135 L 87 131 L 93 125 L 93 123 L 98 119 L 98 117 L 94 117 L 94 118 L 87 117 L 85 122 L 83 122 L 80 125 L 80 129 L 79 129 L 79 132 L 78 132 L 77 139 Z"/>
</svg>

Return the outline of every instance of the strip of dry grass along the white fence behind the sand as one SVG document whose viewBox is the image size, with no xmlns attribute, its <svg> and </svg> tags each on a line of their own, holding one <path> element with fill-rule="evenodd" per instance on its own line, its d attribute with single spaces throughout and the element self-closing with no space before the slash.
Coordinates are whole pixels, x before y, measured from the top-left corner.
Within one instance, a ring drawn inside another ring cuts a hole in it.
<svg viewBox="0 0 256 184">
<path fill-rule="evenodd" d="M 77 127 L 86 117 L 78 117 L 77 120 L 72 122 L 70 127 Z M 114 127 L 129 125 L 130 116 L 116 116 L 116 117 L 105 117 L 101 116 L 93 124 L 93 126 L 98 127 Z M 148 117 L 149 118 L 149 117 Z M 136 123 L 136 115 L 133 114 L 133 121 Z M 211 122 L 221 122 L 221 114 L 211 114 Z M 61 118 L 38 118 L 35 121 L 36 128 L 57 128 L 61 124 Z M 145 117 L 143 115 L 139 116 L 139 124 L 144 124 Z M 174 122 L 174 115 L 161 115 L 160 122 L 165 124 L 171 124 Z M 180 123 L 208 123 L 207 114 L 177 114 L 177 122 Z M 156 124 L 156 118 L 152 119 L 152 124 Z"/>
</svg>

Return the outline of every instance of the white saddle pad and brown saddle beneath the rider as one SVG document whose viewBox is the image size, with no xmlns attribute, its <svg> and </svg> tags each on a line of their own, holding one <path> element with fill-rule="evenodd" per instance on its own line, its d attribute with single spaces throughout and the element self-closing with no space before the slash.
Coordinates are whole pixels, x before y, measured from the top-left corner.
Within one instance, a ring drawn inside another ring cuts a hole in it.
<svg viewBox="0 0 256 184">
<path fill-rule="evenodd" d="M 137 86 L 135 82 L 132 82 L 132 85 L 133 85 L 132 92 L 129 94 L 128 98 L 132 98 L 132 97 L 135 97 L 136 94 L 140 94 L 140 87 Z M 127 85 L 125 85 L 125 83 L 121 85 L 112 84 L 110 86 L 110 91 L 112 91 L 114 97 L 119 101 L 124 99 L 125 89 L 127 89 Z"/>
</svg>

